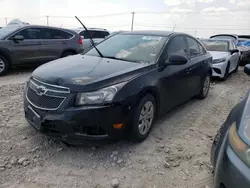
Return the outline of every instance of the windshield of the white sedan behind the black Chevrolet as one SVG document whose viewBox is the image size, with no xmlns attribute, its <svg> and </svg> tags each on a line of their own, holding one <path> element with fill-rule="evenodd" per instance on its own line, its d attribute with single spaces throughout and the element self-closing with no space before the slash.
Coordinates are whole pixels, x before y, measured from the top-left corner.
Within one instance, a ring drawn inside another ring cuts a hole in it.
<svg viewBox="0 0 250 188">
<path fill-rule="evenodd" d="M 227 52 L 229 50 L 228 41 L 203 40 L 201 42 L 208 51 Z"/>
</svg>

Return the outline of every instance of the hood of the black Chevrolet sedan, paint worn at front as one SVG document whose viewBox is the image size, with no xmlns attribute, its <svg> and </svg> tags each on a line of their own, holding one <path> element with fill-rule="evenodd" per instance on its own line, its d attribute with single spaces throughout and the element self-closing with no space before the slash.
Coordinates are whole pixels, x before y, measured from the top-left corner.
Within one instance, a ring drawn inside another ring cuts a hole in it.
<svg viewBox="0 0 250 188">
<path fill-rule="evenodd" d="M 32 77 L 49 84 L 69 87 L 71 91 L 94 90 L 130 80 L 148 71 L 152 65 L 155 64 L 74 55 L 38 67 Z"/>
</svg>

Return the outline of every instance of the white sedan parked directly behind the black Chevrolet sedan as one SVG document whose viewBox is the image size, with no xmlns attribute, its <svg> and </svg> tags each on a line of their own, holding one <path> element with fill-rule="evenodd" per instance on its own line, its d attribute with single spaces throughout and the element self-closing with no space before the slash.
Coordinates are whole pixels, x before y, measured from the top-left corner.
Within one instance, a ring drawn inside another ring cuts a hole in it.
<svg viewBox="0 0 250 188">
<path fill-rule="evenodd" d="M 226 79 L 239 66 L 240 53 L 235 43 L 228 39 L 203 39 L 204 47 L 213 57 L 213 77 Z"/>
</svg>

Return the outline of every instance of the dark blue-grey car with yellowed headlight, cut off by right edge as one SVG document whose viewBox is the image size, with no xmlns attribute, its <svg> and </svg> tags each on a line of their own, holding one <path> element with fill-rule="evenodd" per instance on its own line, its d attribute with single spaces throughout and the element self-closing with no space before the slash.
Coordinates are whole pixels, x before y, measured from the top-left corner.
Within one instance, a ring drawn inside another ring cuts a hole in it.
<svg viewBox="0 0 250 188">
<path fill-rule="evenodd" d="M 250 75 L 250 65 L 245 72 Z M 250 187 L 250 91 L 230 112 L 211 150 L 215 188 Z"/>
</svg>

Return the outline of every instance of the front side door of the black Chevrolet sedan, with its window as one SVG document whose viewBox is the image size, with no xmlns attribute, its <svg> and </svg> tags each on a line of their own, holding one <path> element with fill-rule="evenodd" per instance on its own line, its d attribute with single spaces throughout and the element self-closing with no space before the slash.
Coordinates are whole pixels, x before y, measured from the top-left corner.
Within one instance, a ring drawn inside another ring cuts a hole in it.
<svg viewBox="0 0 250 188">
<path fill-rule="evenodd" d="M 162 64 L 167 64 L 171 55 L 187 56 L 187 43 L 183 35 L 170 39 L 169 44 L 163 51 Z M 173 107 L 188 99 L 187 95 L 187 69 L 185 65 L 160 66 L 160 89 L 161 89 L 161 110 L 169 111 Z"/>
</svg>

